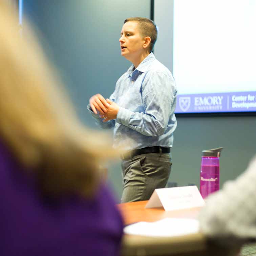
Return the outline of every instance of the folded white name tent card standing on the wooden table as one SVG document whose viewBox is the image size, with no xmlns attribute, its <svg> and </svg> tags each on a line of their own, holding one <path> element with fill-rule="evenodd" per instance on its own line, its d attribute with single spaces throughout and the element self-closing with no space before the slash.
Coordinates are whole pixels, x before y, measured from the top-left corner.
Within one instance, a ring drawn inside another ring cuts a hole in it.
<svg viewBox="0 0 256 256">
<path fill-rule="evenodd" d="M 196 186 L 155 189 L 145 208 L 164 207 L 165 211 L 205 205 Z"/>
</svg>

